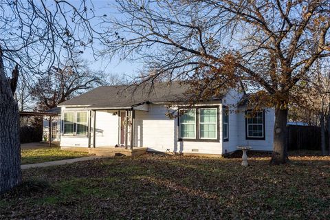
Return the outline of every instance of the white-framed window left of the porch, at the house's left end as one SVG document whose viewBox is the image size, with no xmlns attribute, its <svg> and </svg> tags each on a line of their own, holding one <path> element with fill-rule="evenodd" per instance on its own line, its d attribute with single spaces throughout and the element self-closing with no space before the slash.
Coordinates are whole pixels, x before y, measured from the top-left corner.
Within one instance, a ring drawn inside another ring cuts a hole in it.
<svg viewBox="0 0 330 220">
<path fill-rule="evenodd" d="M 63 135 L 87 135 L 87 111 L 67 111 L 63 116 Z"/>
</svg>

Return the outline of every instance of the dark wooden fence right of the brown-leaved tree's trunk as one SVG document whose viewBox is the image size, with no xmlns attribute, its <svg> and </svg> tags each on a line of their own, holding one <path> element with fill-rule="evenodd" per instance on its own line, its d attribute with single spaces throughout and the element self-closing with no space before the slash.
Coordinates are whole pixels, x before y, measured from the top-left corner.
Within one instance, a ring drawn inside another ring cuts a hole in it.
<svg viewBox="0 0 330 220">
<path fill-rule="evenodd" d="M 327 135 L 326 135 L 327 142 Z M 327 145 L 326 145 L 327 146 Z M 287 126 L 287 148 L 292 150 L 321 149 L 321 133 L 319 126 Z"/>
</svg>

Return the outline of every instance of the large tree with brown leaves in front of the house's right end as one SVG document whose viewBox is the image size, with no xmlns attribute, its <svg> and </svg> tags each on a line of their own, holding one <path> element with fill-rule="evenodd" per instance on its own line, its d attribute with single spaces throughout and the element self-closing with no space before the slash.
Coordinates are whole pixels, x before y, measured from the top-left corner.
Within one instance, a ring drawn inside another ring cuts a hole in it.
<svg viewBox="0 0 330 220">
<path fill-rule="evenodd" d="M 120 18 L 101 55 L 144 61 L 148 74 L 189 79 L 203 98 L 239 83 L 262 90 L 275 108 L 272 163 L 287 161 L 290 91 L 318 58 L 329 56 L 330 2 L 187 0 L 116 1 Z M 263 97 L 261 97 L 263 96 Z"/>
</svg>

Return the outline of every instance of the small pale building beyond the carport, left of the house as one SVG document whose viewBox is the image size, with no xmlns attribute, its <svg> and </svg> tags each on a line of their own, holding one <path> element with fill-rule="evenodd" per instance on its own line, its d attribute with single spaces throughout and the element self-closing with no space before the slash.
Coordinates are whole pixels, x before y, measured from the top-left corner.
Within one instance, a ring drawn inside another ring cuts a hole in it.
<svg viewBox="0 0 330 220">
<path fill-rule="evenodd" d="M 60 142 L 61 140 L 61 108 L 56 107 L 48 110 L 46 113 L 55 115 L 43 116 L 43 140 L 49 142 L 52 138 L 52 142 Z M 50 119 L 52 119 L 50 121 Z M 51 128 L 51 129 L 50 129 Z M 50 135 L 50 132 L 52 135 Z"/>
</svg>

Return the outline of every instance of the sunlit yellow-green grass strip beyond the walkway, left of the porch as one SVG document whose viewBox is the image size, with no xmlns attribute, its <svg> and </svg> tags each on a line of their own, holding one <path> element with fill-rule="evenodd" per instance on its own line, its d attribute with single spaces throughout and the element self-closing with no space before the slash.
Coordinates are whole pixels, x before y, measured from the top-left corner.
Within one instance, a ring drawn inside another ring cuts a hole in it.
<svg viewBox="0 0 330 220">
<path fill-rule="evenodd" d="M 72 159 L 76 157 L 85 157 L 86 152 L 61 151 L 59 146 L 23 149 L 21 150 L 21 164 L 36 164 L 60 159 Z"/>
</svg>

